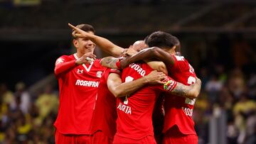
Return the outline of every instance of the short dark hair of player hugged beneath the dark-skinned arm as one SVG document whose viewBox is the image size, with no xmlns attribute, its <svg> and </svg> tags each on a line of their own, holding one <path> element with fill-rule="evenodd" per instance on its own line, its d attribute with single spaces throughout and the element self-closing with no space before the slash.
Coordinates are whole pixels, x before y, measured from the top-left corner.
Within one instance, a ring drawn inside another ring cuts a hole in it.
<svg viewBox="0 0 256 144">
<path fill-rule="evenodd" d="M 180 45 L 178 38 L 163 31 L 151 33 L 145 38 L 145 43 L 149 45 L 149 47 L 159 48 L 172 48 L 174 45 Z"/>
</svg>

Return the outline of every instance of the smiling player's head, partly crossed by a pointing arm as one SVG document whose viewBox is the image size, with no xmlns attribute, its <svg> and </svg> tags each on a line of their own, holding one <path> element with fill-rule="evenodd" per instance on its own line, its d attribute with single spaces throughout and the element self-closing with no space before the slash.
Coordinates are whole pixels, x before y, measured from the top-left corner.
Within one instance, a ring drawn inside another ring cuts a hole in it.
<svg viewBox="0 0 256 144">
<path fill-rule="evenodd" d="M 75 27 L 80 28 L 82 31 L 86 31 L 87 33 L 95 34 L 95 29 L 89 24 L 79 24 Z M 73 44 L 75 45 L 75 48 L 77 48 L 77 51 L 83 54 L 93 52 L 96 46 L 95 43 L 92 43 L 92 41 L 87 38 L 77 38 L 75 33 L 76 31 L 72 30 Z"/>
</svg>

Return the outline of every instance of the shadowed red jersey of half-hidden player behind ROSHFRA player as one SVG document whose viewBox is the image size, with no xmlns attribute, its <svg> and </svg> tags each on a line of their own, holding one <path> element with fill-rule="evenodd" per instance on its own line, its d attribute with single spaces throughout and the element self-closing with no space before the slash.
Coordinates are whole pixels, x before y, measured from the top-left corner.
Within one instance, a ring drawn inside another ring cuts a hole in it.
<svg viewBox="0 0 256 144">
<path fill-rule="evenodd" d="M 112 72 L 120 74 L 119 70 L 114 69 L 107 69 L 102 74 L 91 123 L 91 134 L 102 131 L 110 139 L 114 138 L 114 133 L 117 131 L 117 99 L 107 88 L 107 77 Z"/>
</svg>

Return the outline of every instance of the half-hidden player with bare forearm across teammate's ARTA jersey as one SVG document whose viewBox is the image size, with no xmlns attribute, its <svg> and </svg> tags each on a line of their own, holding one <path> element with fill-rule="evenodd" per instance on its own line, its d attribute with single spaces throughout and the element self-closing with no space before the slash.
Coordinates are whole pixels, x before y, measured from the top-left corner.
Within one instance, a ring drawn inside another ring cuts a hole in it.
<svg viewBox="0 0 256 144">
<path fill-rule="evenodd" d="M 107 69 L 100 79 L 90 130 L 93 144 L 111 144 L 113 142 L 114 134 L 117 131 L 115 122 L 117 120 L 116 97 L 132 94 L 146 84 L 163 84 L 161 79 L 166 78 L 164 73 L 153 71 L 140 79 L 122 83 L 119 74 L 119 70 Z M 114 95 L 108 87 L 114 89 Z"/>
</svg>

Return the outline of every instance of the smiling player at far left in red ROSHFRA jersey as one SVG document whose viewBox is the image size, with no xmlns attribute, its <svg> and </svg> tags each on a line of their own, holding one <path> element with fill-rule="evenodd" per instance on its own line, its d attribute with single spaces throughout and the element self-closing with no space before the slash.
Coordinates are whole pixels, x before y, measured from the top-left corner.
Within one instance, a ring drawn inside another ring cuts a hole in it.
<svg viewBox="0 0 256 144">
<path fill-rule="evenodd" d="M 94 35 L 95 30 L 87 24 L 77 28 Z M 93 54 L 95 43 L 75 36 L 73 55 L 63 55 L 55 62 L 55 77 L 58 79 L 60 106 L 54 123 L 55 143 L 90 143 L 90 122 L 95 106 L 97 87 L 106 67 L 100 65 Z M 116 50 L 106 50 L 116 55 Z"/>
</svg>

